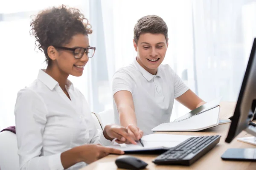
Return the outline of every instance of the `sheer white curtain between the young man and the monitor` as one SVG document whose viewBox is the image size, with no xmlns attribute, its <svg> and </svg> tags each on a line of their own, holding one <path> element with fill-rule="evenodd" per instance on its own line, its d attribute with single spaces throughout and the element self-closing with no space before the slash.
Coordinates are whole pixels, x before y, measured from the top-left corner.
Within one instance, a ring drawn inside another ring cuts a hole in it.
<svg viewBox="0 0 256 170">
<path fill-rule="evenodd" d="M 245 0 L 197 0 L 193 4 L 195 68 L 198 94 L 206 100 L 223 96 L 236 101 L 253 36 L 255 20 L 246 16 L 254 3 Z M 252 25 L 246 23 L 247 20 Z"/>
</svg>

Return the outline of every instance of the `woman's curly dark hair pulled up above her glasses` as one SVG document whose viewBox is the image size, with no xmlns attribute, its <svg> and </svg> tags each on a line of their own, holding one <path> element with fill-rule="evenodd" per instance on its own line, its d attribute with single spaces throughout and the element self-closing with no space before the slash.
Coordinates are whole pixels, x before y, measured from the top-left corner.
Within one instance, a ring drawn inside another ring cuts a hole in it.
<svg viewBox="0 0 256 170">
<path fill-rule="evenodd" d="M 44 51 L 48 65 L 51 59 L 47 54 L 47 48 L 50 45 L 65 45 L 76 34 L 88 35 L 93 32 L 88 20 L 79 9 L 67 8 L 64 5 L 39 12 L 30 26 L 32 27 L 30 35 L 36 39 L 36 47 Z"/>
</svg>

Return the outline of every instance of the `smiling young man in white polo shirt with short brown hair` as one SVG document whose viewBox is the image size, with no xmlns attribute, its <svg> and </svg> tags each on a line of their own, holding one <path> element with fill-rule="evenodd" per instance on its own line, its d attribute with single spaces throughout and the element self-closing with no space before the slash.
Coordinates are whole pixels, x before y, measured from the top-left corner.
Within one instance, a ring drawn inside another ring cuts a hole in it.
<svg viewBox="0 0 256 170">
<path fill-rule="evenodd" d="M 161 65 L 168 47 L 168 28 L 161 17 L 148 15 L 134 26 L 137 57 L 113 76 L 115 122 L 138 140 L 169 122 L 174 99 L 193 110 L 205 102 L 170 68 Z"/>
</svg>

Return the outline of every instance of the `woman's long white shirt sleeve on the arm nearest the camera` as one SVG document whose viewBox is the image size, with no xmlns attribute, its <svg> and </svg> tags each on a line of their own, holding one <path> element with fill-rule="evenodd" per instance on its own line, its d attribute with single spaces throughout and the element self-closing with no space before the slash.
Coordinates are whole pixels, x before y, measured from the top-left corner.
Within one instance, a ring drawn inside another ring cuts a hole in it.
<svg viewBox="0 0 256 170">
<path fill-rule="evenodd" d="M 61 153 L 40 156 L 47 108 L 35 92 L 25 88 L 18 92 L 15 125 L 20 170 L 63 170 Z"/>
</svg>

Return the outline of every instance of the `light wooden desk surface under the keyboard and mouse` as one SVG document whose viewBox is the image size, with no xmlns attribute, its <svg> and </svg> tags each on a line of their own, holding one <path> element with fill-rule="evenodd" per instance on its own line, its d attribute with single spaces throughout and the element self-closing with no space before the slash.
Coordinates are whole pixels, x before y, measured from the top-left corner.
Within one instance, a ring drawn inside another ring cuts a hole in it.
<svg viewBox="0 0 256 170">
<path fill-rule="evenodd" d="M 220 119 L 227 119 L 233 115 L 235 109 L 235 102 L 221 102 Z M 167 134 L 180 134 L 180 135 L 194 135 L 194 136 L 204 136 L 204 135 L 221 135 L 220 142 L 212 148 L 207 154 L 205 154 L 201 159 L 198 159 L 194 164 L 189 167 L 186 166 L 173 166 L 173 165 L 156 165 L 151 162 L 157 155 L 136 155 L 141 160 L 148 163 L 148 170 L 165 170 L 165 169 L 175 169 L 175 170 L 253 170 L 256 169 L 256 162 L 243 162 L 243 161 L 222 161 L 221 155 L 228 148 L 245 148 L 254 147 L 252 144 L 247 144 L 244 142 L 239 142 L 234 139 L 230 144 L 225 143 L 225 138 L 229 130 L 230 123 L 218 125 L 216 127 L 209 128 L 201 132 L 161 132 Z M 250 136 L 246 132 L 241 132 L 237 137 Z M 118 155 L 109 155 L 103 159 L 95 161 L 81 170 L 117 170 L 115 164 L 115 159 Z M 121 170 L 121 169 L 120 169 Z"/>
</svg>

